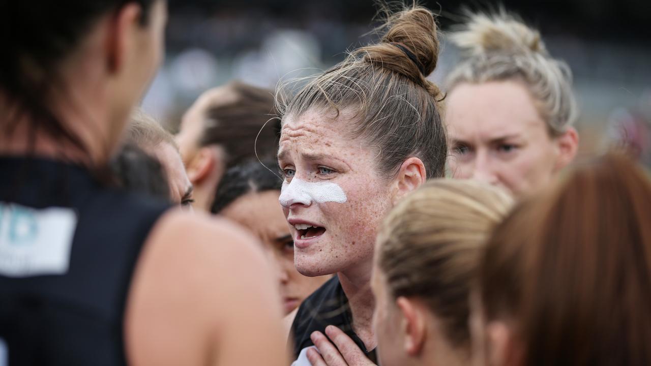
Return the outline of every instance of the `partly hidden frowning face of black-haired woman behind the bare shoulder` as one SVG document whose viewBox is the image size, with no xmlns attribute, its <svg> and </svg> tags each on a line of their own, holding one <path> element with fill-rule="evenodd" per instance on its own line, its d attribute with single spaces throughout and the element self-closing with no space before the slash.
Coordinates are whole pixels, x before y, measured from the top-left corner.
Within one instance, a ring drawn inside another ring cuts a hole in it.
<svg viewBox="0 0 651 366">
<path fill-rule="evenodd" d="M 278 204 L 279 191 L 248 193 L 224 208 L 220 214 L 255 234 L 277 264 L 284 313 L 291 313 L 329 276 L 306 277 L 294 267 L 294 240 Z"/>
</svg>

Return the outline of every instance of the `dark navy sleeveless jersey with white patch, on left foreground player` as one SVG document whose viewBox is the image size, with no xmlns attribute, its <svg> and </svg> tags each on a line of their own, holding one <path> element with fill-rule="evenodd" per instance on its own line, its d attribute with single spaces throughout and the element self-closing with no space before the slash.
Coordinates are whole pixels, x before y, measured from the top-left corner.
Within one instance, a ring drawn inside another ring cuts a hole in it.
<svg viewBox="0 0 651 366">
<path fill-rule="evenodd" d="M 0 365 L 124 365 L 126 299 L 169 204 L 0 157 Z"/>
</svg>

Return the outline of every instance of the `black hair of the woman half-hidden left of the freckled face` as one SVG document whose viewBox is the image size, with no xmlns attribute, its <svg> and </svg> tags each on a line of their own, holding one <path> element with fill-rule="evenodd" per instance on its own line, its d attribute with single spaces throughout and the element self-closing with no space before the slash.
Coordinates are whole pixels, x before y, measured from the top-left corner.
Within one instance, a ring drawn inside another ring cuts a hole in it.
<svg viewBox="0 0 651 366">
<path fill-rule="evenodd" d="M 273 167 L 277 167 L 277 163 L 273 160 L 262 162 L 255 160 L 230 168 L 217 186 L 215 201 L 210 206 L 210 212 L 219 214 L 221 210 L 247 193 L 280 191 L 283 180 L 270 170 Z"/>
</svg>

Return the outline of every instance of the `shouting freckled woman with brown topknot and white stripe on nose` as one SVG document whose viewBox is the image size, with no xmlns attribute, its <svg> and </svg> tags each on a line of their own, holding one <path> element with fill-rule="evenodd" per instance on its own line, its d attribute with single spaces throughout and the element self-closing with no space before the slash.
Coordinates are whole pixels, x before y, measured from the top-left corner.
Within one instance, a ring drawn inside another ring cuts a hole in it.
<svg viewBox="0 0 651 366">
<path fill-rule="evenodd" d="M 299 307 L 290 337 L 296 365 L 375 360 L 378 226 L 400 198 L 444 174 L 442 97 L 426 79 L 437 63 L 436 22 L 412 7 L 389 16 L 386 29 L 281 107 L 279 201 L 294 264 L 303 275 L 337 274 Z"/>
</svg>

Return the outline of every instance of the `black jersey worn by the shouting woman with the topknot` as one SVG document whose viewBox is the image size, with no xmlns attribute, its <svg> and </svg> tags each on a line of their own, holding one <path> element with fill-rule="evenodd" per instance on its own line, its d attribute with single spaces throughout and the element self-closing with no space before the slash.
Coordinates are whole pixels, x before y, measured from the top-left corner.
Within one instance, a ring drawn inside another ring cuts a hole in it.
<svg viewBox="0 0 651 366">
<path fill-rule="evenodd" d="M 290 341 L 292 338 L 294 341 L 294 359 L 298 358 L 304 348 L 314 346 L 310 339 L 312 332 L 320 331 L 326 335 L 326 327 L 330 325 L 337 326 L 344 331 L 371 361 L 378 363 L 375 350 L 367 350 L 364 342 L 353 331 L 348 298 L 344 294 L 337 275 L 329 279 L 301 303 L 292 323 L 290 335 Z"/>
</svg>

